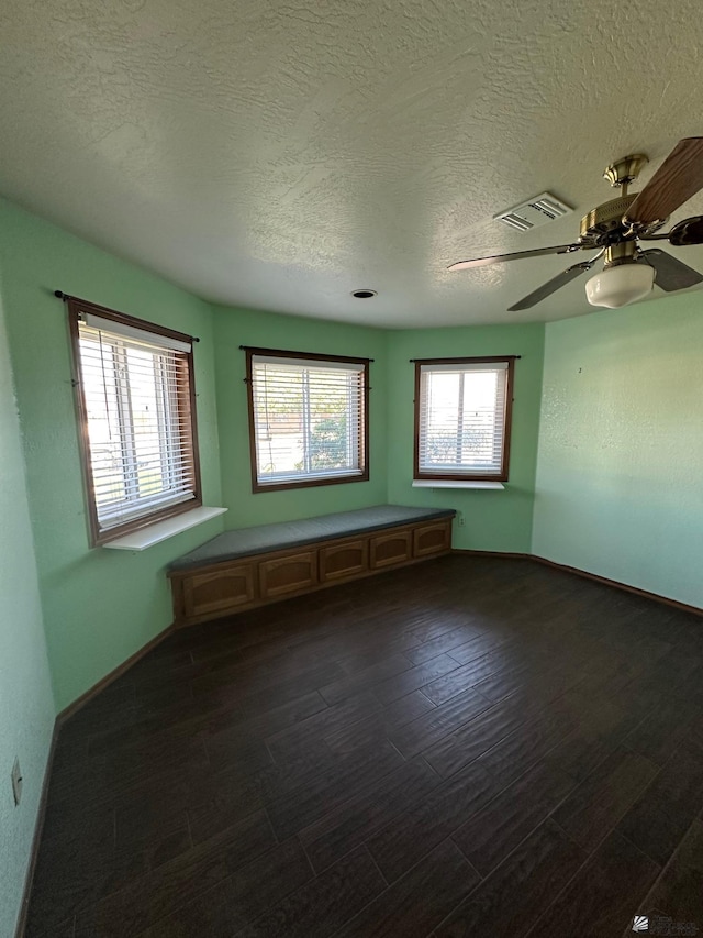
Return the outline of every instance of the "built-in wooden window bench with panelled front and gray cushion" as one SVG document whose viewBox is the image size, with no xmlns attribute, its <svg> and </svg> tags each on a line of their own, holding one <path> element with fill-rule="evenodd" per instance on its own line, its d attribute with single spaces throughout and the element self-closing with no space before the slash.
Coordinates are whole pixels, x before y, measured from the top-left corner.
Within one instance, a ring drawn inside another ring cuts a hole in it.
<svg viewBox="0 0 703 938">
<path fill-rule="evenodd" d="M 447 553 L 455 514 L 378 505 L 225 531 L 169 564 L 175 622 L 230 616 Z"/>
</svg>

